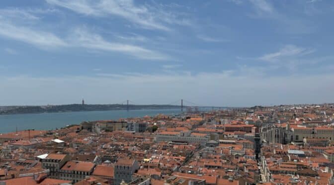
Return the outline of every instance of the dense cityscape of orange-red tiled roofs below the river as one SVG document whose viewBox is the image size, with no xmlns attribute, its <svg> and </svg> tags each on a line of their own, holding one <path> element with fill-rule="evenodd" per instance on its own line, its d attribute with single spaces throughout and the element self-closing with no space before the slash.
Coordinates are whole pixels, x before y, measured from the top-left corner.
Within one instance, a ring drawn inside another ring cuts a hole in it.
<svg viewBox="0 0 334 185">
<path fill-rule="evenodd" d="M 334 104 L 184 111 L 0 135 L 1 185 L 331 185 Z"/>
</svg>

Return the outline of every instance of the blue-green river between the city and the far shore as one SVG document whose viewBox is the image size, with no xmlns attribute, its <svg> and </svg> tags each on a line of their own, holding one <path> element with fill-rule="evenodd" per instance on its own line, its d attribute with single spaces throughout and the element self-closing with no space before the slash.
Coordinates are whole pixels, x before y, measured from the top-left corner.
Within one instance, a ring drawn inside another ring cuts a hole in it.
<svg viewBox="0 0 334 185">
<path fill-rule="evenodd" d="M 0 115 L 0 133 L 14 132 L 16 126 L 18 130 L 49 130 L 71 124 L 80 124 L 82 121 L 143 117 L 146 115 L 154 116 L 157 114 L 171 115 L 178 113 L 180 113 L 180 109 L 108 110 Z"/>
</svg>

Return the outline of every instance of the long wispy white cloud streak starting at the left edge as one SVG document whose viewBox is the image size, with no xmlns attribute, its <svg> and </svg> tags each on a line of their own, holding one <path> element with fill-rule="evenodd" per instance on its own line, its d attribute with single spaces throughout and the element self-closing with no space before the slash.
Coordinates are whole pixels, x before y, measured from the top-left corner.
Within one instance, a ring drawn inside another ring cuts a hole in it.
<svg viewBox="0 0 334 185">
<path fill-rule="evenodd" d="M 15 15 L 15 13 L 18 14 Z M 0 9 L 0 37 L 25 42 L 43 50 L 81 47 L 99 51 L 119 52 L 146 60 L 168 59 L 167 55 L 141 46 L 107 41 L 102 36 L 91 33 L 84 28 L 75 29 L 72 34 L 64 33 L 65 36 L 60 37 L 51 31 L 35 28 L 34 25 L 24 25 L 24 19 L 38 22 L 39 18 L 24 9 Z M 123 37 L 122 39 L 130 38 Z M 9 51 L 8 49 L 7 52 L 14 53 L 14 51 Z"/>
</svg>

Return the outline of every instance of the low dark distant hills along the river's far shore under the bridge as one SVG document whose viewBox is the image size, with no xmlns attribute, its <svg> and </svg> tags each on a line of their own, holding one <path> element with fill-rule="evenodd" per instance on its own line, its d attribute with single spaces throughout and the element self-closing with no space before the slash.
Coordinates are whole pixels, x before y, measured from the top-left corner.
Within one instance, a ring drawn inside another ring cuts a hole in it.
<svg viewBox="0 0 334 185">
<path fill-rule="evenodd" d="M 179 105 L 129 105 L 129 109 L 163 109 L 180 108 Z M 0 114 L 29 114 L 52 112 L 78 112 L 99 110 L 126 110 L 126 104 L 68 104 L 68 105 L 44 105 L 44 106 L 6 106 L 0 107 Z"/>
</svg>

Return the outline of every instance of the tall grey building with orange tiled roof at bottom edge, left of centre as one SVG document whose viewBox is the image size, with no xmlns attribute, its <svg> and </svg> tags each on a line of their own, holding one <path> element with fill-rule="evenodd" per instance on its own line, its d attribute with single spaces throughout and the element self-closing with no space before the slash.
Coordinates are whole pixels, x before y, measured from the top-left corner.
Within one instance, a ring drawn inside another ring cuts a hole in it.
<svg viewBox="0 0 334 185">
<path fill-rule="evenodd" d="M 118 159 L 114 167 L 114 185 L 120 185 L 122 181 L 125 183 L 132 182 L 132 175 L 139 169 L 137 160 L 134 159 Z"/>
</svg>

